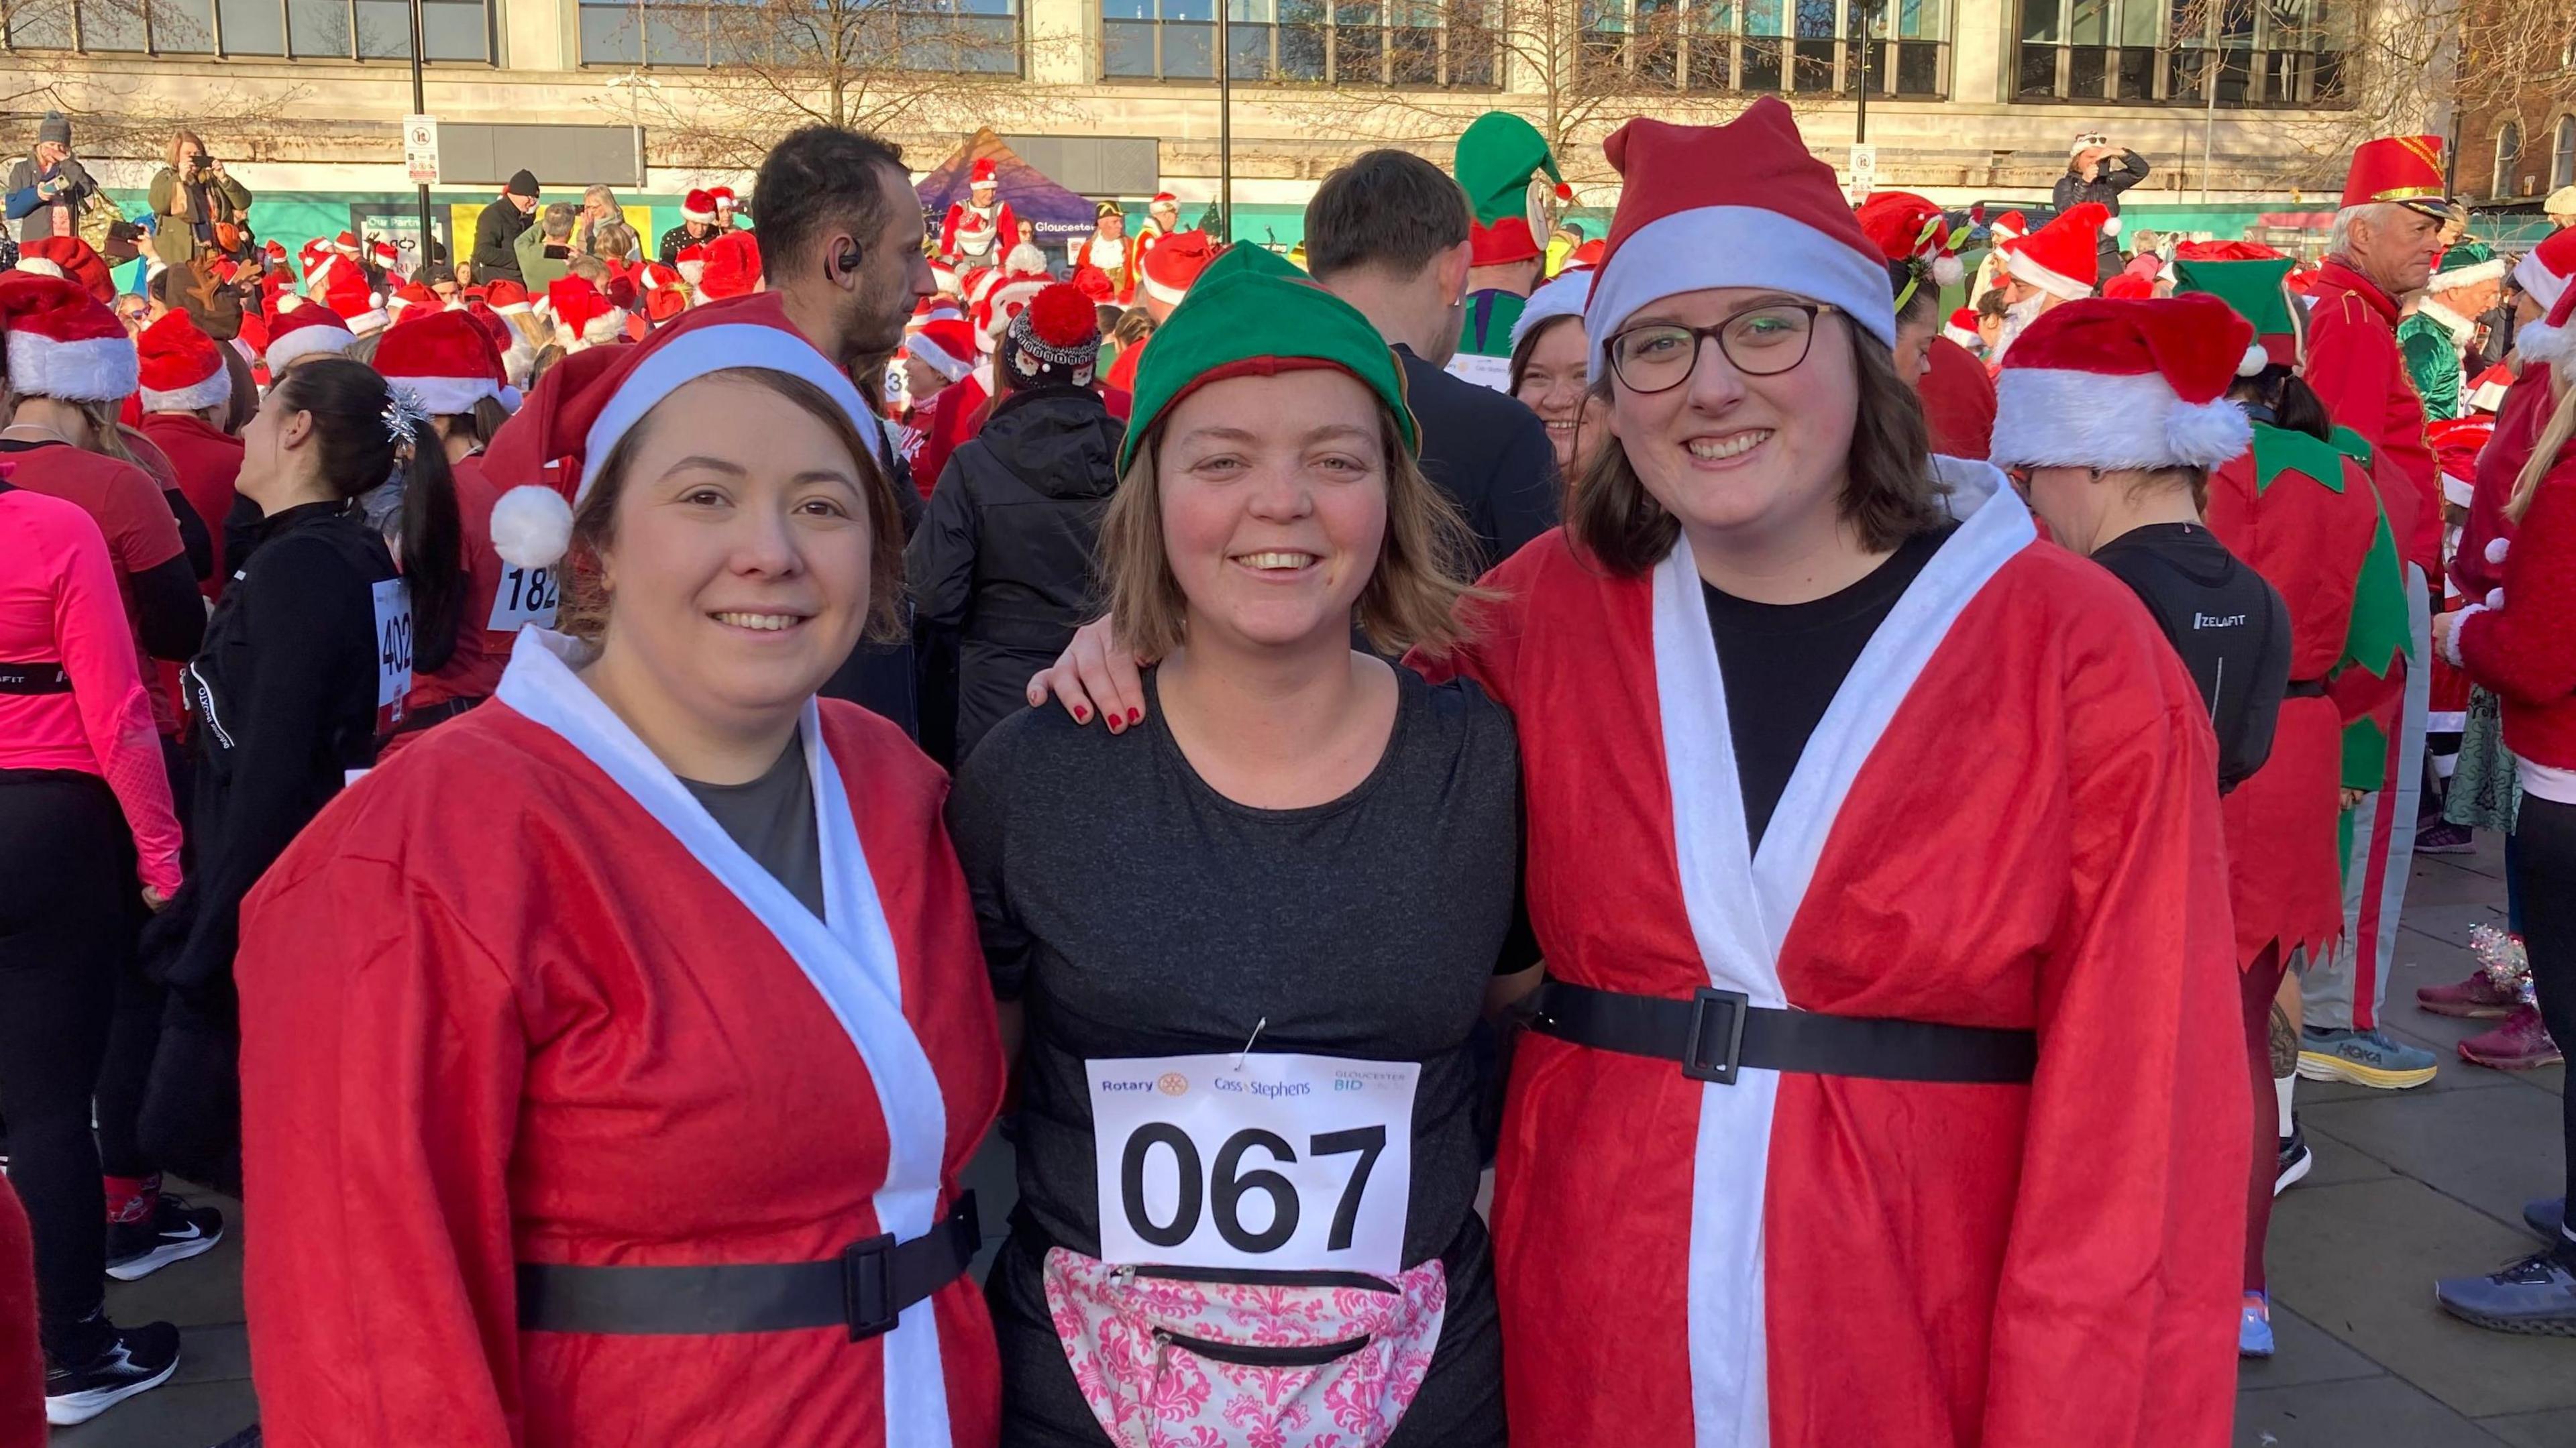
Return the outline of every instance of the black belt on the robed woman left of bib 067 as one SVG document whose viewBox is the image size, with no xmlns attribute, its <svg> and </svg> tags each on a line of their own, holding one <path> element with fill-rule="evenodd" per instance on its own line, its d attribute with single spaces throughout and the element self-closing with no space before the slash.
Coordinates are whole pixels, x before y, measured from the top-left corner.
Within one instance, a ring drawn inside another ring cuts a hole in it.
<svg viewBox="0 0 2576 1448">
<path fill-rule="evenodd" d="M 927 1234 L 853 1242 L 827 1262 L 721 1268 L 518 1265 L 526 1332 L 796 1332 L 848 1327 L 850 1342 L 891 1332 L 904 1309 L 966 1275 L 981 1237 L 974 1193 Z"/>
</svg>

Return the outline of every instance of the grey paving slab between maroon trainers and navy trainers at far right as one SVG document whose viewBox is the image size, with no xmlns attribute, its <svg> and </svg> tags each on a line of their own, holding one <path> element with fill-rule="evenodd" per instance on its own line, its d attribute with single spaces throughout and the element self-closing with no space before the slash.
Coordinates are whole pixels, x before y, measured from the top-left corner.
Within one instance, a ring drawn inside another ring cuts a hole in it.
<svg viewBox="0 0 2576 1448">
<path fill-rule="evenodd" d="M 2470 1067 L 2476 1069 L 2476 1067 Z M 2537 1090 L 2452 1090 L 2419 1100 L 2336 1100 L 2300 1110 L 2311 1139 L 2326 1134 L 2434 1185 L 2504 1226 L 2522 1203 L 2558 1196 L 2558 1103 Z"/>
</svg>

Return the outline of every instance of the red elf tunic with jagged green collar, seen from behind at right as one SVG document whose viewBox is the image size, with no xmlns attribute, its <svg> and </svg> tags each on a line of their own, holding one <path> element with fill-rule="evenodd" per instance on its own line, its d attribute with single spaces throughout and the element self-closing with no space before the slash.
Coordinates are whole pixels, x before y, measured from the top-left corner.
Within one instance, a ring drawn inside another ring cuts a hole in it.
<svg viewBox="0 0 2576 1448">
<path fill-rule="evenodd" d="M 2352 593 L 2380 528 L 2370 474 L 2331 443 L 2257 423 L 2254 448 L 2210 474 L 2205 515 L 2290 608 L 2290 680 L 2326 680 L 2344 657 Z M 2239 966 L 2264 946 L 2316 958 L 2342 938 L 2342 711 L 2324 693 L 2298 693 L 2280 701 L 2272 757 L 2221 799 Z"/>
</svg>

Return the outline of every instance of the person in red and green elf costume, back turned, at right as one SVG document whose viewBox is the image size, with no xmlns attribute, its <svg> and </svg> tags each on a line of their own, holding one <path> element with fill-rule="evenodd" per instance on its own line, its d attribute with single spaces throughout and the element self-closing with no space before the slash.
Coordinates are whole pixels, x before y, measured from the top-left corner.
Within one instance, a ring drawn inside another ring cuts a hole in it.
<svg viewBox="0 0 2576 1448">
<path fill-rule="evenodd" d="M 2406 642 L 2396 546 L 2370 474 L 2334 448 L 2324 405 L 2295 376 L 2300 309 L 2282 286 L 2290 258 L 2174 260 L 2174 296 L 2218 296 L 2254 325 L 2231 399 L 2254 446 L 2210 474 L 2210 533 L 2290 608 L 2290 688 L 2272 724 L 2272 757 L 2221 799 L 2228 902 L 2244 984 L 2254 1157 L 2246 1172 L 2246 1278 L 2236 1348 L 2272 1355 L 2262 1250 L 2272 1193 L 2306 1175 L 2293 1139 L 2293 1074 L 2272 1074 L 2272 1002 L 2298 961 L 2344 933 L 2342 714 L 2326 685 L 2344 670 L 2385 675 Z"/>
</svg>

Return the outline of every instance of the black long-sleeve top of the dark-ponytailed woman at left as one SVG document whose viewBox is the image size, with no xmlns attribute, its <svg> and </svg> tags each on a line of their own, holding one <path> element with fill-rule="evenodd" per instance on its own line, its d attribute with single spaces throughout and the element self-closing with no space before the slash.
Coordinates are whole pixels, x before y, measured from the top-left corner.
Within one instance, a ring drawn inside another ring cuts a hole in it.
<svg viewBox="0 0 2576 1448">
<path fill-rule="evenodd" d="M 304 824 L 376 760 L 374 590 L 397 577 L 348 505 L 307 502 L 260 526 L 250 562 L 188 662 L 196 714 L 196 873 L 170 984 L 224 997 L 242 897 Z"/>
</svg>

